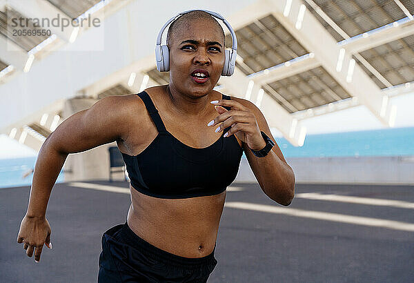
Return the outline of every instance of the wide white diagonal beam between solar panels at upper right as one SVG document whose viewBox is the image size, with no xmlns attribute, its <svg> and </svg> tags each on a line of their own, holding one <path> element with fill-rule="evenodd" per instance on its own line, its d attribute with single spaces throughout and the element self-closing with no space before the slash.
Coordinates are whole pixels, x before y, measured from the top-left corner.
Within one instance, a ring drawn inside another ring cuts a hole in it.
<svg viewBox="0 0 414 283">
<path fill-rule="evenodd" d="M 382 95 L 380 88 L 355 64 L 349 52 L 341 50 L 335 39 L 306 9 L 302 1 L 268 0 L 268 8 L 306 50 L 315 54 L 315 59 L 346 92 L 357 97 L 382 124 L 390 126 L 396 109 L 388 102 L 388 96 Z M 338 59 L 342 59 L 342 67 L 337 70 Z"/>
</svg>

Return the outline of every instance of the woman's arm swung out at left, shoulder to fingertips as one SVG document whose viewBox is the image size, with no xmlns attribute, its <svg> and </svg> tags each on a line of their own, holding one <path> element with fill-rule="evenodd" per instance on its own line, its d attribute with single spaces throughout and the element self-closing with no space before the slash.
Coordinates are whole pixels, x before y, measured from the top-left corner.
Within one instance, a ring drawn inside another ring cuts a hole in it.
<svg viewBox="0 0 414 283">
<path fill-rule="evenodd" d="M 29 257 L 32 257 L 35 247 L 34 259 L 39 261 L 43 244 L 49 246 L 50 226 L 46 207 L 66 157 L 69 153 L 80 153 L 125 139 L 132 113 L 130 101 L 128 97 L 104 97 L 90 108 L 64 120 L 43 142 L 34 166 L 28 210 L 17 237 L 18 243 L 25 242 Z"/>
</svg>

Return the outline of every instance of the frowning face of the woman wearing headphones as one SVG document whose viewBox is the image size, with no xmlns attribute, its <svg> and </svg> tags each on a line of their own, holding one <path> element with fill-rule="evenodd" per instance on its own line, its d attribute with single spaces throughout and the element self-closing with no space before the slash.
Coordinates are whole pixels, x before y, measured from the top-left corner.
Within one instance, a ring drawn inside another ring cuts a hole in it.
<svg viewBox="0 0 414 283">
<path fill-rule="evenodd" d="M 217 84 L 224 60 L 219 27 L 208 20 L 190 22 L 188 28 L 177 30 L 170 46 L 170 88 L 195 97 L 206 95 Z M 208 72 L 205 82 L 193 77 L 197 69 Z"/>
</svg>

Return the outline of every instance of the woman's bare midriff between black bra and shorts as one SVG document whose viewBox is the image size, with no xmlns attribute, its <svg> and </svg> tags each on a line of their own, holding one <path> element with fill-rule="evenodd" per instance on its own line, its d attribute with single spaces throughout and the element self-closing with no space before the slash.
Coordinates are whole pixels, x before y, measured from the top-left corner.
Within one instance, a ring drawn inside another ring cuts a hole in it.
<svg viewBox="0 0 414 283">
<path fill-rule="evenodd" d="M 128 226 L 141 239 L 181 257 L 213 252 L 226 191 L 187 199 L 161 199 L 130 186 Z"/>
</svg>

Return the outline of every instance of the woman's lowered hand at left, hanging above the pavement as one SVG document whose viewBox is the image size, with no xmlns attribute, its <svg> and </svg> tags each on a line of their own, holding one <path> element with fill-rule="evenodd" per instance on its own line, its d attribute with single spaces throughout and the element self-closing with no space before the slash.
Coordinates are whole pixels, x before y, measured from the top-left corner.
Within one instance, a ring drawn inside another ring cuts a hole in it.
<svg viewBox="0 0 414 283">
<path fill-rule="evenodd" d="M 39 262 L 43 244 L 46 244 L 48 248 L 52 248 L 50 233 L 51 229 L 46 217 L 34 218 L 25 215 L 21 220 L 17 242 L 19 244 L 24 242 L 23 248 L 26 250 L 28 257 L 32 257 L 34 248 L 36 248 L 34 261 Z"/>
</svg>

